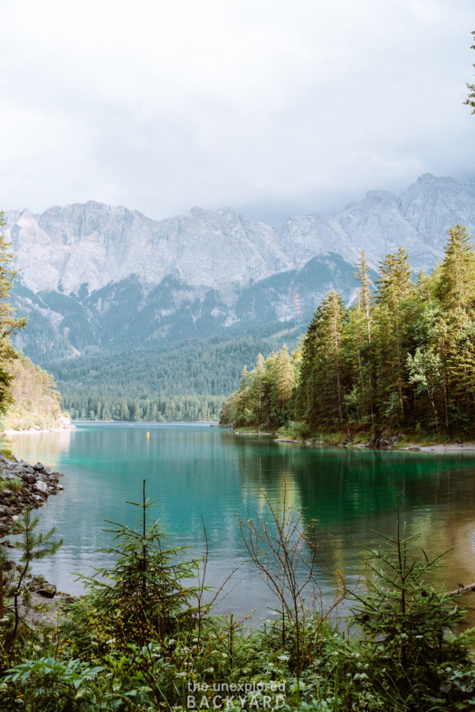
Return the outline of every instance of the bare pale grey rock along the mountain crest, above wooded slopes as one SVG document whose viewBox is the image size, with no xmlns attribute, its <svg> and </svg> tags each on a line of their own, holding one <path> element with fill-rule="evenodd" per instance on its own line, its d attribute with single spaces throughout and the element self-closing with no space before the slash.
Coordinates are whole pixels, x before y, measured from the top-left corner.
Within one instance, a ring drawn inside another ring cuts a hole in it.
<svg viewBox="0 0 475 712">
<path fill-rule="evenodd" d="M 353 262 L 404 246 L 414 267 L 429 268 L 442 255 L 446 230 L 456 222 L 475 229 L 475 182 L 429 174 L 400 198 L 373 191 L 340 214 L 289 217 L 276 228 L 238 215 L 193 208 L 155 221 L 140 212 L 90 201 L 53 207 L 41 215 L 6 214 L 21 280 L 34 293 L 89 293 L 132 274 L 147 285 L 167 275 L 189 286 L 247 286 L 299 268 L 315 256 L 338 253 Z"/>
</svg>

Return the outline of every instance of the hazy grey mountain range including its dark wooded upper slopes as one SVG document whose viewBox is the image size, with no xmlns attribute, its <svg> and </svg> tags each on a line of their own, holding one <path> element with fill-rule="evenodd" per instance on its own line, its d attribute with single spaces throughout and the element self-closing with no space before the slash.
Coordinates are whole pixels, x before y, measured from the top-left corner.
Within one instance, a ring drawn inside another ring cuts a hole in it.
<svg viewBox="0 0 475 712">
<path fill-rule="evenodd" d="M 306 321 L 333 287 L 352 299 L 362 250 L 373 281 L 400 245 L 414 270 L 429 270 L 451 225 L 475 230 L 475 180 L 424 174 L 399 197 L 372 191 L 338 214 L 274 227 L 231 208 L 155 221 L 95 201 L 5 219 L 19 270 L 14 303 L 29 315 L 16 345 L 48 366 L 290 321 L 296 293 Z"/>
</svg>

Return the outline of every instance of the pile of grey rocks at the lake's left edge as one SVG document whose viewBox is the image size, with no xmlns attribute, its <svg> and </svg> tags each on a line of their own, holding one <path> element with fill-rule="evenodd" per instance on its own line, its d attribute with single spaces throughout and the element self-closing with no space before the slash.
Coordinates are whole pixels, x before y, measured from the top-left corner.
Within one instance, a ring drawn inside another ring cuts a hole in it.
<svg viewBox="0 0 475 712">
<path fill-rule="evenodd" d="M 0 455 L 0 536 L 11 533 L 14 522 L 27 506 L 42 507 L 51 494 L 63 489 L 60 472 L 41 462 L 30 465 L 14 455 Z"/>
</svg>

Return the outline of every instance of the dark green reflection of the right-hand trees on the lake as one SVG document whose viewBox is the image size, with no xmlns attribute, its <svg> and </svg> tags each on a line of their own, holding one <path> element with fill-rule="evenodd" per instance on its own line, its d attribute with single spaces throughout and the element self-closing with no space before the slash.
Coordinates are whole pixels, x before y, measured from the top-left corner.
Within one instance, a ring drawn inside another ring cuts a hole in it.
<svg viewBox="0 0 475 712">
<path fill-rule="evenodd" d="M 283 481 L 292 504 L 306 520 L 318 519 L 321 538 L 330 535 L 320 557 L 322 573 L 355 571 L 365 546 L 379 539 L 372 530 L 394 534 L 397 496 L 407 530 L 420 533 L 420 545 L 433 555 L 455 545 L 469 548 L 469 536 L 456 533 L 466 518 L 455 513 L 473 511 L 473 459 L 426 454 L 303 448 L 233 438 L 239 454 L 239 475 L 247 498 L 261 488 L 269 501 L 281 501 Z M 474 520 L 475 529 L 475 520 Z M 464 561 L 457 550 L 447 557 Z M 475 555 L 467 552 L 471 566 Z M 469 576 L 469 572 L 467 572 Z M 447 576 L 447 575 L 446 575 Z M 475 578 L 474 575 L 472 575 Z M 451 579 L 450 579 L 451 580 Z"/>
</svg>

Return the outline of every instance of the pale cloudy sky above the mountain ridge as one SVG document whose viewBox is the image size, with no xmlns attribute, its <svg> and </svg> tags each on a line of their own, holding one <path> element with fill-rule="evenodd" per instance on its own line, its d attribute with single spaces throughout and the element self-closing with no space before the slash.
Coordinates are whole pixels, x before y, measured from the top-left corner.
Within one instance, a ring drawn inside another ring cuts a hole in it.
<svg viewBox="0 0 475 712">
<path fill-rule="evenodd" d="M 475 178 L 473 0 L 0 0 L 0 207 L 276 224 Z"/>
</svg>

